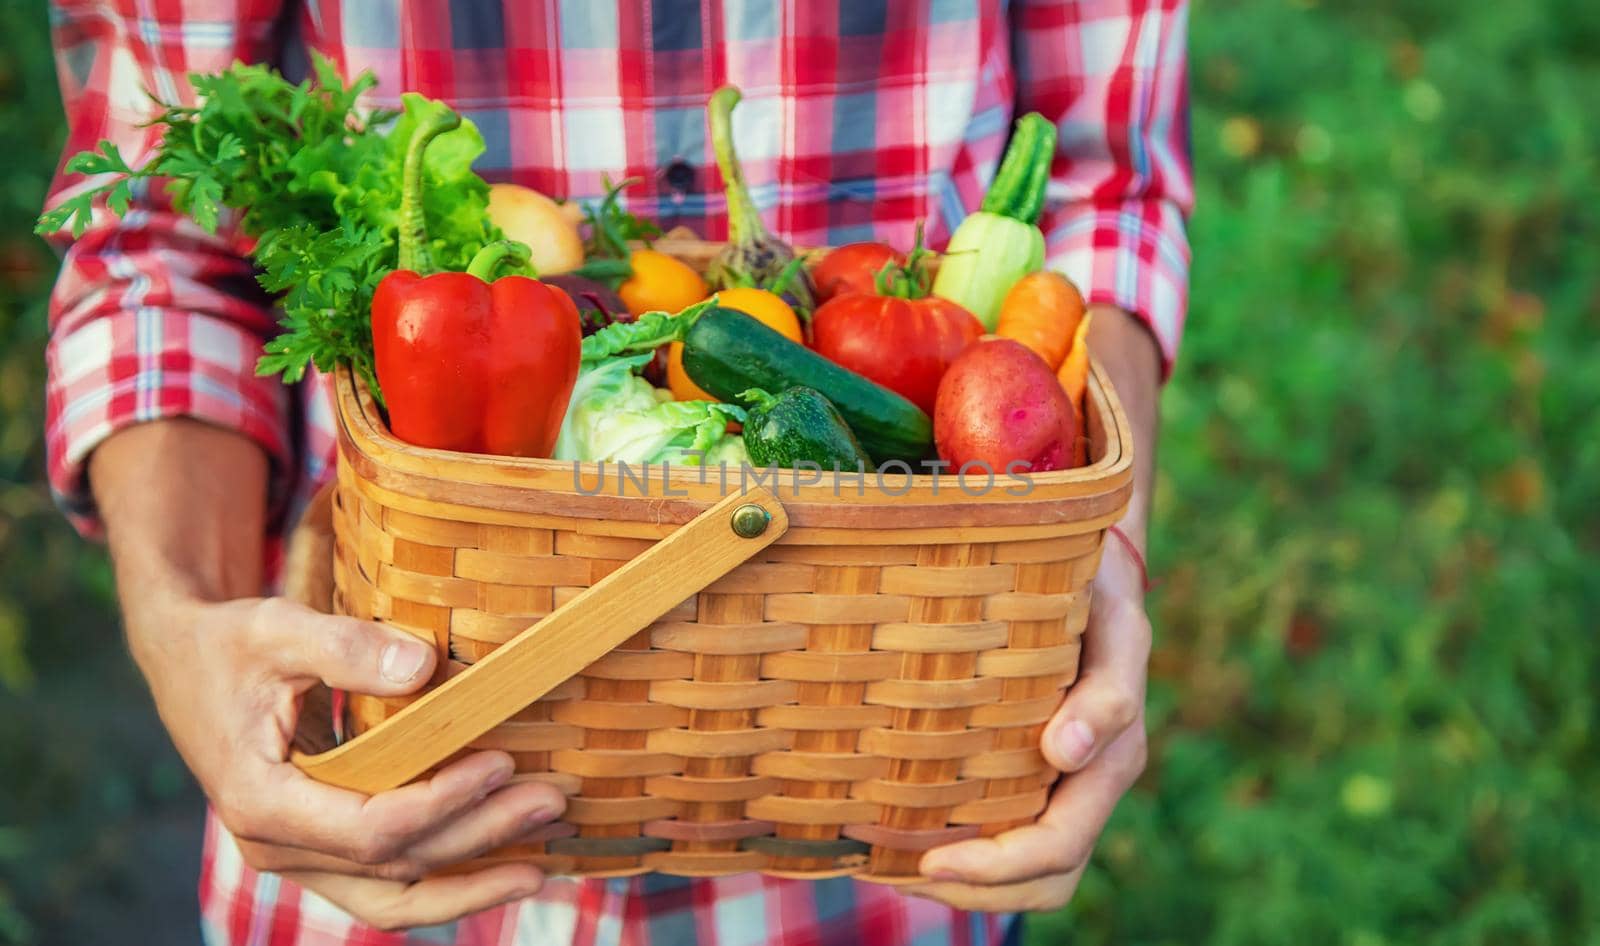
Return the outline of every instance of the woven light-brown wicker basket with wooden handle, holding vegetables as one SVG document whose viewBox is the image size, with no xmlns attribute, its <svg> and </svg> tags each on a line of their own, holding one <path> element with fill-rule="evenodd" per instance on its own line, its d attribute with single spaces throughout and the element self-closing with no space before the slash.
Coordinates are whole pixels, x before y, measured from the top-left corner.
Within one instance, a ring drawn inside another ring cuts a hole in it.
<svg viewBox="0 0 1600 946">
<path fill-rule="evenodd" d="M 363 735 L 298 762 L 381 791 L 509 751 L 570 802 L 488 860 L 550 872 L 917 880 L 1054 781 L 1040 730 L 1133 479 L 1098 365 L 1088 400 L 1090 466 L 1021 496 L 659 467 L 602 487 L 597 464 L 402 443 L 341 375 L 334 607 L 448 659 L 421 698 L 352 696 Z"/>
</svg>

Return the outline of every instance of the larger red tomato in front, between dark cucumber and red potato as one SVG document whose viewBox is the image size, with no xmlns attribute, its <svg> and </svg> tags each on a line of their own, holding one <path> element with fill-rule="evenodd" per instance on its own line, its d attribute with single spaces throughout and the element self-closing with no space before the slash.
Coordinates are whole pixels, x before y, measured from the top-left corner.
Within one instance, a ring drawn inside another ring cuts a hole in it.
<svg viewBox="0 0 1600 946">
<path fill-rule="evenodd" d="M 811 317 L 811 347 L 877 381 L 933 416 L 939 379 L 984 327 L 938 296 L 902 299 L 846 293 Z"/>
</svg>

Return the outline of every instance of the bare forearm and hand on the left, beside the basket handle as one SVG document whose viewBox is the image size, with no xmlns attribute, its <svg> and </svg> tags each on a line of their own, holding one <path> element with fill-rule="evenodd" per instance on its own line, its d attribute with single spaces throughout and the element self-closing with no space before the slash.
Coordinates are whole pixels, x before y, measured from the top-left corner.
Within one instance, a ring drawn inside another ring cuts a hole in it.
<svg viewBox="0 0 1600 946">
<path fill-rule="evenodd" d="M 512 844 L 565 808 L 541 783 L 509 784 L 506 752 L 475 752 L 376 796 L 312 781 L 288 762 L 318 685 L 400 696 L 434 648 L 402 631 L 259 599 L 266 458 L 243 437 L 157 421 L 91 459 L 128 645 L 162 722 L 245 861 L 285 874 L 357 919 L 429 925 L 539 890 L 531 864 L 419 880 Z"/>
</svg>

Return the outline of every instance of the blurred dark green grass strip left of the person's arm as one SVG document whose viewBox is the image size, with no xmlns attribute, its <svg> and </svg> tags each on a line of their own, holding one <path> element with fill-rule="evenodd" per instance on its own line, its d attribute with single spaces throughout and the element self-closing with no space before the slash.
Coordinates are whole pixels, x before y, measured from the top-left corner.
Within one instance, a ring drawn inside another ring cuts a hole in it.
<svg viewBox="0 0 1600 946">
<path fill-rule="evenodd" d="M 42 483 L 32 218 L 61 149 L 43 3 L 0 3 L 0 943 L 197 941 L 202 799 L 122 643 L 110 568 Z"/>
</svg>

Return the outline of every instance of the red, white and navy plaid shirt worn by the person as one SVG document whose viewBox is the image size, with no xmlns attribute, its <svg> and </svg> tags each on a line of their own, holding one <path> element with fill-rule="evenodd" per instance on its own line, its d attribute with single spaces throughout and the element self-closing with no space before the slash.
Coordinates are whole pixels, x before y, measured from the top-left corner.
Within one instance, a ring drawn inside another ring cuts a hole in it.
<svg viewBox="0 0 1600 946">
<path fill-rule="evenodd" d="M 726 234 L 704 125 L 723 82 L 752 197 L 797 243 L 933 247 L 974 208 L 1013 114 L 1058 122 L 1040 222 L 1050 264 L 1142 317 L 1171 363 L 1182 327 L 1192 200 L 1182 0 L 59 0 L 51 5 L 66 152 L 101 138 L 139 155 L 146 91 L 187 99 L 187 72 L 234 59 L 304 69 L 320 50 L 402 90 L 443 98 L 483 131 L 490 179 L 594 198 L 640 176 L 632 210 Z M 58 176 L 53 198 L 82 181 Z M 158 194 L 96 219 L 66 248 L 51 299 L 50 479 L 86 533 L 90 451 L 126 424 L 192 416 L 274 458 L 280 522 L 328 475 L 325 381 L 256 378 L 274 331 L 245 245 L 208 235 Z M 269 560 L 275 557 L 269 541 Z M 213 818 L 202 871 L 211 943 L 994 943 L 1003 919 L 890 888 L 758 874 L 554 880 L 536 900 L 408 936 L 358 927 L 326 901 L 246 868 Z"/>
</svg>

